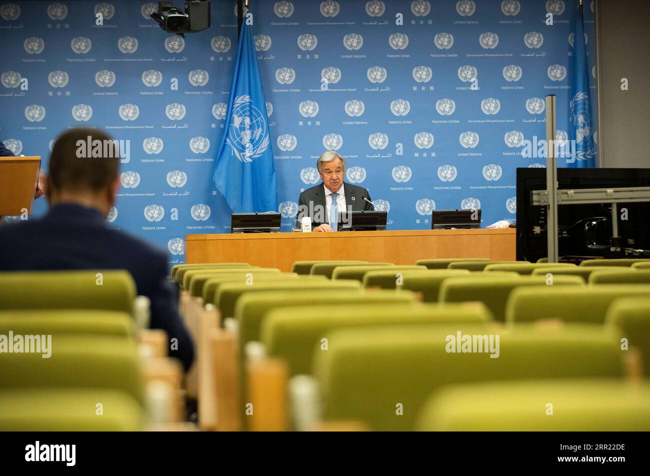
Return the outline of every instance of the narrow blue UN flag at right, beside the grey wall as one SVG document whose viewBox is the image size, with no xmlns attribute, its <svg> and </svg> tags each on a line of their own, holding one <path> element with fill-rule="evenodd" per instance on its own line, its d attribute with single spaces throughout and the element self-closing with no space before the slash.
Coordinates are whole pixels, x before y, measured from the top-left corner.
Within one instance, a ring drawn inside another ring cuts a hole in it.
<svg viewBox="0 0 650 476">
<path fill-rule="evenodd" d="M 571 94 L 569 116 L 569 140 L 575 144 L 573 157 L 567 159 L 569 167 L 588 168 L 596 166 L 595 142 L 593 140 L 593 114 L 589 88 L 589 66 L 584 41 L 582 9 L 578 7 L 573 27 Z M 573 142 L 575 140 L 575 142 Z"/>
</svg>

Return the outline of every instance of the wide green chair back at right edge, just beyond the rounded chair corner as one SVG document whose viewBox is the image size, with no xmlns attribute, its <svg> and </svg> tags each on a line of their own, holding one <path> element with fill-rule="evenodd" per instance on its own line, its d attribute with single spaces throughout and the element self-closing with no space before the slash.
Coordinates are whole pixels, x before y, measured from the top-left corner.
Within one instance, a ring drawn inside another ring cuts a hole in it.
<svg viewBox="0 0 650 476">
<path fill-rule="evenodd" d="M 614 299 L 647 296 L 649 293 L 650 284 L 522 287 L 510 293 L 506 304 L 506 322 L 561 319 L 603 324 L 607 308 Z"/>
</svg>

